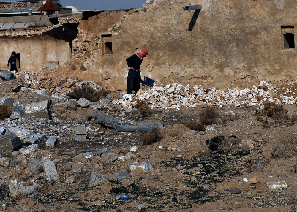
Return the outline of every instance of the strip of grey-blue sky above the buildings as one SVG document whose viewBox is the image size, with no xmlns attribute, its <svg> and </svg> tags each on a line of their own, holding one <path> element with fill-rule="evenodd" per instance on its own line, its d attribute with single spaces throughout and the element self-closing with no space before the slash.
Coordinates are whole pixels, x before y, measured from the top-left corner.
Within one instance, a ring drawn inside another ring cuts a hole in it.
<svg viewBox="0 0 297 212">
<path fill-rule="evenodd" d="M 3 1 L 10 0 L 0 0 L 0 2 Z M 119 10 L 142 8 L 142 5 L 146 4 L 146 0 L 60 0 L 60 2 L 63 7 L 71 5 L 76 7 L 78 10 Z"/>
</svg>

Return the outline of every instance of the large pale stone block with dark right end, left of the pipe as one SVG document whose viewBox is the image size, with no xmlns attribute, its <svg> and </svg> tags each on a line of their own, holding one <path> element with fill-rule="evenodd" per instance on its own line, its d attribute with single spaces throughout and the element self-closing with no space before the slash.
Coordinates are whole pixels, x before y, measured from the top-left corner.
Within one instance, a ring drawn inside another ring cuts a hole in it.
<svg viewBox="0 0 297 212">
<path fill-rule="evenodd" d="M 26 105 L 26 116 L 35 116 L 36 118 L 52 119 L 50 102 L 46 100 L 43 102 L 31 103 Z"/>
</svg>

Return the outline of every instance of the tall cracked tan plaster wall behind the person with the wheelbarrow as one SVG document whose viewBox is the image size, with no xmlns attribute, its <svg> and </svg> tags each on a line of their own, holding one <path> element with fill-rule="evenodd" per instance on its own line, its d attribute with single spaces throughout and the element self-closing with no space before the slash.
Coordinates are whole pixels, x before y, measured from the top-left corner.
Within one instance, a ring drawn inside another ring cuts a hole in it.
<svg viewBox="0 0 297 212">
<path fill-rule="evenodd" d="M 202 10 L 189 31 L 194 10 L 183 8 L 193 4 L 202 4 Z M 165 83 L 179 79 L 226 88 L 250 80 L 293 80 L 297 53 L 282 49 L 281 34 L 281 26 L 296 24 L 293 5 L 297 2 L 157 0 L 120 20 L 121 29 L 112 34 L 112 56 L 102 56 L 99 42 L 94 64 L 80 76 L 125 89 L 126 58 L 147 49 L 142 76 Z"/>
</svg>

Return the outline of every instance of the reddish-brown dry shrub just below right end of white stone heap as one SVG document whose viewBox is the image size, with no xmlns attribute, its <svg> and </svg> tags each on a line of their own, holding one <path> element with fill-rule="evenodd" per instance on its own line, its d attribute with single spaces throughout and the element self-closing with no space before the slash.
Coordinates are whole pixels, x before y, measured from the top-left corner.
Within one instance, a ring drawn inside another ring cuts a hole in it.
<svg viewBox="0 0 297 212">
<path fill-rule="evenodd" d="M 268 118 L 273 118 L 277 120 L 277 122 L 281 122 L 283 119 L 287 120 L 288 110 L 284 108 L 284 105 L 275 104 L 270 102 L 264 102 L 263 109 L 257 108 L 256 115 L 257 116 L 267 116 Z"/>
</svg>

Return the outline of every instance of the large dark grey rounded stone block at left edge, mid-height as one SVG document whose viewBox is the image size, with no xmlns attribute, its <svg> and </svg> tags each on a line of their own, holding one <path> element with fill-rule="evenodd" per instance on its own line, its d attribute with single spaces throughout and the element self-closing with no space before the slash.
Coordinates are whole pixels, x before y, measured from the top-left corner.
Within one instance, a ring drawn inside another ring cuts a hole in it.
<svg viewBox="0 0 297 212">
<path fill-rule="evenodd" d="M 7 133 L 0 136 L 0 153 L 12 153 L 12 151 L 20 147 L 20 145 L 20 137 L 13 133 Z"/>
</svg>

